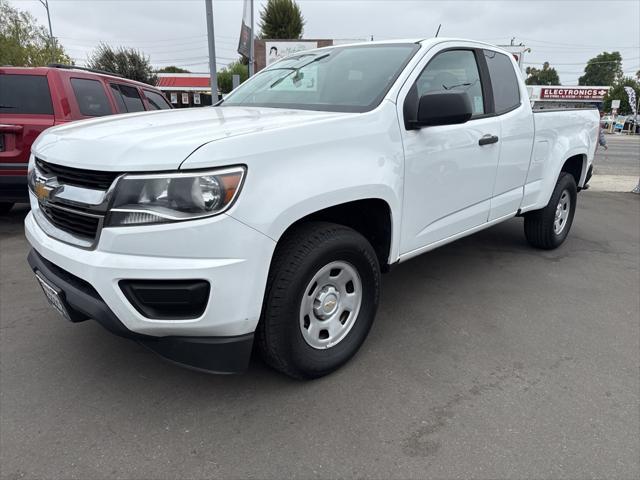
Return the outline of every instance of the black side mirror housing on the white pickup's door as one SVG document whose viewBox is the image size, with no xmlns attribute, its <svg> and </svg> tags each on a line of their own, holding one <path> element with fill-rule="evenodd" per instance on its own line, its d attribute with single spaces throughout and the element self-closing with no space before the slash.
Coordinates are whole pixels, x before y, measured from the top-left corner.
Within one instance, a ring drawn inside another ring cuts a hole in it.
<svg viewBox="0 0 640 480">
<path fill-rule="evenodd" d="M 412 129 L 436 125 L 465 123 L 473 115 L 466 92 L 432 92 L 420 97 L 416 119 L 408 122 Z"/>
</svg>

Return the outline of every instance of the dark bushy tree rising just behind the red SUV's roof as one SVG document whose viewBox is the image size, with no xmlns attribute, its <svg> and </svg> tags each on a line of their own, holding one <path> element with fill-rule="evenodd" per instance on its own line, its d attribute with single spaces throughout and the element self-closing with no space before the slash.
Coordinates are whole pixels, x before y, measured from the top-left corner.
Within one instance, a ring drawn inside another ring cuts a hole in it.
<svg viewBox="0 0 640 480">
<path fill-rule="evenodd" d="M 90 68 L 116 73 L 149 85 L 155 85 L 158 80 L 149 57 L 134 48 L 113 49 L 101 43 L 89 56 L 88 63 Z"/>
</svg>

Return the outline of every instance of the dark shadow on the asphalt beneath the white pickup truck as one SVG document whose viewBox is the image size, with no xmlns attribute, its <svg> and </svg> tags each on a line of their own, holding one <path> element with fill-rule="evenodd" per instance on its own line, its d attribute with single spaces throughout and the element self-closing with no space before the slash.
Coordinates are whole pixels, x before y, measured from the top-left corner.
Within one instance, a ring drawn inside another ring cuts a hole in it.
<svg viewBox="0 0 640 480">
<path fill-rule="evenodd" d="M 502 265 L 505 262 L 517 262 L 523 253 L 540 256 L 539 251 L 531 250 L 526 243 L 522 232 L 522 219 L 513 219 L 393 267 L 390 273 L 383 276 L 382 298 L 376 323 L 355 360 L 366 355 L 366 352 L 376 349 L 388 351 L 393 348 L 393 345 L 403 343 L 403 335 L 406 334 L 407 329 L 428 329 L 443 314 L 441 310 L 443 298 L 455 299 L 460 289 L 476 288 L 476 284 L 481 285 L 484 281 L 487 268 L 503 268 Z M 431 315 L 430 309 L 433 305 L 440 305 L 439 316 Z M 399 321 L 403 324 L 402 329 L 394 327 Z M 91 324 L 90 327 L 89 324 Z M 301 382 L 271 370 L 256 352 L 252 356 L 248 371 L 242 375 L 209 375 L 164 361 L 141 345 L 112 337 L 107 332 L 101 331 L 101 328 L 93 322 L 85 322 L 83 329 L 91 330 L 91 333 L 87 331 L 87 334 L 92 339 L 83 342 L 87 345 L 88 356 L 90 356 L 88 345 L 91 341 L 110 344 L 113 342 L 111 347 L 114 350 L 123 350 L 118 354 L 122 359 L 123 369 L 110 366 L 110 371 L 116 376 L 141 375 L 148 380 L 153 379 L 153 382 L 157 381 L 165 385 L 166 382 L 175 381 L 183 387 L 212 389 L 212 391 L 221 387 L 229 389 L 232 386 L 242 390 L 256 381 L 263 384 L 263 387 L 267 383 L 277 388 L 290 386 L 294 391 L 300 388 Z M 442 348 L 436 345 L 432 347 Z M 432 347 L 426 339 L 424 348 Z M 352 368 L 350 365 L 325 379 L 312 383 L 331 381 L 331 378 L 341 376 L 342 372 Z M 89 368 L 88 365 L 87 367 Z"/>
</svg>

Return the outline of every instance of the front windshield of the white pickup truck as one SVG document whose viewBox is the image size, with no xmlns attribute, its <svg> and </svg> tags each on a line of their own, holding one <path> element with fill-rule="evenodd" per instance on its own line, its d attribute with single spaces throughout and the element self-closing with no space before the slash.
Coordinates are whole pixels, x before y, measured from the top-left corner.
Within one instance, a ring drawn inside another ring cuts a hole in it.
<svg viewBox="0 0 640 480">
<path fill-rule="evenodd" d="M 262 70 L 222 105 L 366 112 L 382 101 L 418 49 L 397 43 L 299 53 Z"/>
</svg>

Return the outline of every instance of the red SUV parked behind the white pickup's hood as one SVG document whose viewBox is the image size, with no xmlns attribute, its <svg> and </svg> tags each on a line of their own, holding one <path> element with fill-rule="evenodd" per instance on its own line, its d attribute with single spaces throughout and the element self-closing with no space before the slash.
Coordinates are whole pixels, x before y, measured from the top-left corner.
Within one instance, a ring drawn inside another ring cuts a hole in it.
<svg viewBox="0 0 640 480">
<path fill-rule="evenodd" d="M 31 145 L 46 128 L 115 113 L 169 109 L 151 85 L 96 70 L 0 67 L 0 213 L 28 202 Z"/>
</svg>

